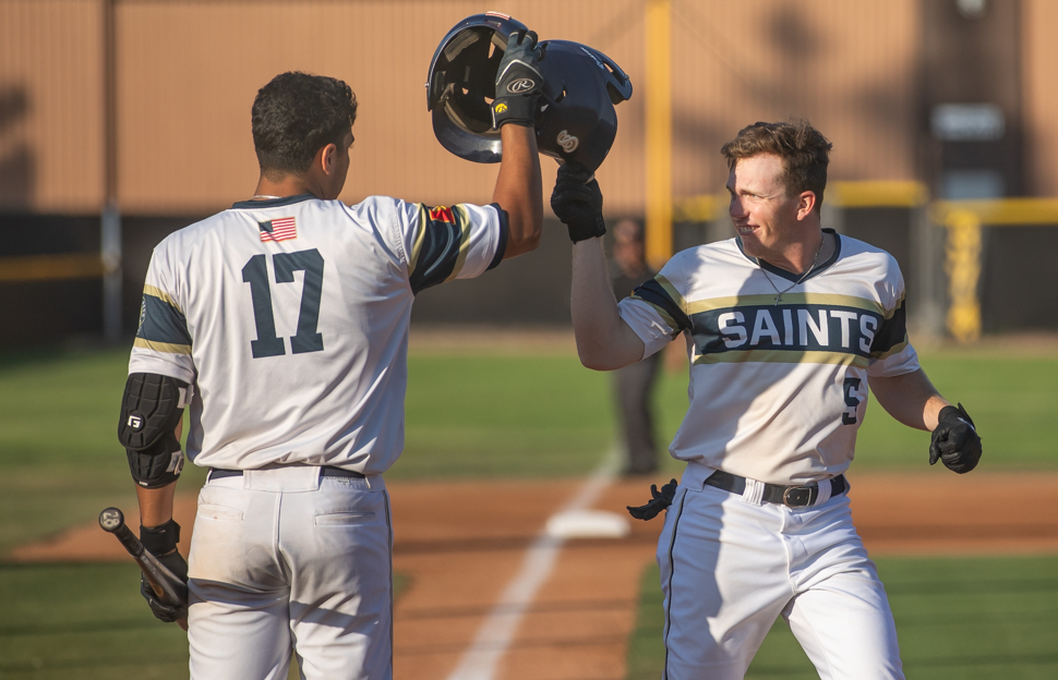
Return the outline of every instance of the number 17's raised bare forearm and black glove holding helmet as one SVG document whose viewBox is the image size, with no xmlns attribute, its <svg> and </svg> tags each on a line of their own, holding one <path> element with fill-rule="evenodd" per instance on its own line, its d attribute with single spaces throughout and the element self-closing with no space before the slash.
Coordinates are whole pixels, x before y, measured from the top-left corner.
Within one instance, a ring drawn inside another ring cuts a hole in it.
<svg viewBox="0 0 1058 680">
<path fill-rule="evenodd" d="M 503 258 L 528 253 L 540 243 L 543 197 L 540 156 L 532 129 L 536 100 L 543 86 L 537 34 L 515 32 L 496 72 L 493 125 L 503 139 L 503 159 L 492 199 L 507 212 L 507 248 Z"/>
</svg>

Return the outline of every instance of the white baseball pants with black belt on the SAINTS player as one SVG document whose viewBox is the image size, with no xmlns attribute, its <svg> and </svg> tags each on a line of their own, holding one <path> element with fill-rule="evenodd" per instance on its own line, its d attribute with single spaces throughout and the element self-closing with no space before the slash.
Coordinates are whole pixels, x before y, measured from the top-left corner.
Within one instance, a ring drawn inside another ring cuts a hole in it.
<svg viewBox="0 0 1058 680">
<path fill-rule="evenodd" d="M 745 677 L 779 616 L 822 680 L 902 679 L 889 600 L 847 496 L 754 502 L 759 483 L 740 496 L 706 486 L 711 472 L 687 466 L 658 543 L 664 680 Z"/>
</svg>

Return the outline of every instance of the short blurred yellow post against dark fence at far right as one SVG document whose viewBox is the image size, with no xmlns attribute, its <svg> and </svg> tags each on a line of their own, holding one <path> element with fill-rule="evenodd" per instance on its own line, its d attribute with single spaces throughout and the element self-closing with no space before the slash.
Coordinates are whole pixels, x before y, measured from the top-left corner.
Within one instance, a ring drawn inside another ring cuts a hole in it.
<svg viewBox="0 0 1058 680">
<path fill-rule="evenodd" d="M 951 298 L 948 331 L 958 342 L 973 342 L 981 338 L 981 302 L 977 300 L 981 218 L 971 210 L 953 210 L 945 226 L 948 228 L 945 271 Z"/>
</svg>

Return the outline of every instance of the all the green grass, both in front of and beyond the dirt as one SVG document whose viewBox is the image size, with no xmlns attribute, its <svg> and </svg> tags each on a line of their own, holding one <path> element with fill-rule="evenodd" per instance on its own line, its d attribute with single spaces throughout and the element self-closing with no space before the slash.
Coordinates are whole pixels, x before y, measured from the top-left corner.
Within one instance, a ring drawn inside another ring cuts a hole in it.
<svg viewBox="0 0 1058 680">
<path fill-rule="evenodd" d="M 0 354 L 0 560 L 13 546 L 94 521 L 101 508 L 134 503 L 115 439 L 127 361 L 123 351 Z M 1058 411 L 1058 354 L 1009 355 L 997 348 L 933 352 L 923 363 L 977 421 L 986 451 L 982 470 L 1058 467 L 1051 444 L 1058 440 L 1051 415 Z M 413 354 L 410 376 L 407 448 L 390 478 L 580 475 L 611 446 L 608 376 L 581 368 L 573 355 Z M 657 401 L 666 440 L 686 409 L 685 376 L 665 375 Z M 902 428 L 875 405 L 854 469 L 921 470 L 927 445 L 925 433 Z M 180 488 L 192 493 L 202 479 L 190 466 Z M 1006 673 L 1011 678 L 1055 677 L 1058 628 L 1050 612 L 1058 609 L 1058 561 L 966 564 L 880 561 L 909 671 L 983 678 L 990 676 L 981 669 L 1006 669 L 1009 661 L 1024 667 L 1021 676 Z M 962 590 L 945 580 L 951 573 Z M 144 678 L 187 677 L 182 635 L 157 626 L 130 583 L 131 564 L 0 561 L 0 610 L 7 615 L 0 678 L 120 678 L 133 669 Z M 789 670 L 783 655 L 790 649 L 803 659 L 795 644 L 773 632 L 754 677 L 813 677 Z M 973 668 L 950 670 L 959 653 L 975 659 Z M 1025 675 L 1032 667 L 1042 675 Z"/>
</svg>

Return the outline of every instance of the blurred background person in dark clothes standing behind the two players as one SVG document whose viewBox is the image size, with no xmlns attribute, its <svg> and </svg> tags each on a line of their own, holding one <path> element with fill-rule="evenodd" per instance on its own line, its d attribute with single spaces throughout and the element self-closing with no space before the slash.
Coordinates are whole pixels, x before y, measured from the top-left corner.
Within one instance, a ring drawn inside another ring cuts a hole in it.
<svg viewBox="0 0 1058 680">
<path fill-rule="evenodd" d="M 647 265 L 642 227 L 638 222 L 621 220 L 613 228 L 613 239 L 611 284 L 614 298 L 620 302 L 658 272 Z M 625 454 L 622 473 L 625 475 L 648 474 L 658 469 L 650 392 L 660 360 L 659 352 L 613 372 L 614 403 Z"/>
</svg>

